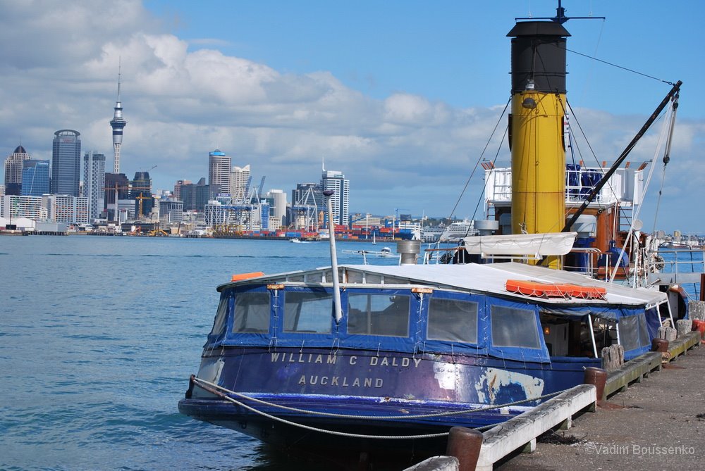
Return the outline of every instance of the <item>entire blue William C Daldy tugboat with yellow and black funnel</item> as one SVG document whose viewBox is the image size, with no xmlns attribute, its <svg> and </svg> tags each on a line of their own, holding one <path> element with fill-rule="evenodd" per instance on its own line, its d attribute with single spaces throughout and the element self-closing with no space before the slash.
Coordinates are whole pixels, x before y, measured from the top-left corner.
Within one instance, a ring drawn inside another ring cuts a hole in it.
<svg viewBox="0 0 705 471">
<path fill-rule="evenodd" d="M 591 206 L 601 183 L 584 166 L 565 177 L 562 23 L 509 33 L 513 165 L 486 168 L 486 188 L 510 189 L 488 199 L 496 220 L 460 227 L 447 264 L 417 264 L 419 241 L 403 241 L 399 265 L 338 267 L 331 237 L 330 267 L 221 284 L 181 413 L 288 450 L 422 458 L 450 427 L 493 426 L 582 383 L 603 348 L 649 351 L 683 314 L 664 291 L 612 282 L 635 274 L 630 254 L 596 233 L 620 233 L 622 201 Z"/>
</svg>

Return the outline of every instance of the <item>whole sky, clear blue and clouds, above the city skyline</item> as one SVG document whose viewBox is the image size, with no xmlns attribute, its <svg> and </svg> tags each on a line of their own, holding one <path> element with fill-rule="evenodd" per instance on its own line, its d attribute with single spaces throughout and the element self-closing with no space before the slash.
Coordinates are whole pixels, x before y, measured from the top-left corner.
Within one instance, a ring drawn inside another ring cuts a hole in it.
<svg viewBox="0 0 705 471">
<path fill-rule="evenodd" d="M 0 156 L 21 143 L 50 159 L 54 132 L 74 129 L 110 171 L 120 63 L 121 171 L 130 178 L 148 170 L 157 189 L 196 182 L 220 149 L 249 164 L 255 184 L 266 176 L 265 191 L 290 197 L 298 182 L 318 182 L 324 163 L 350 180 L 352 213 L 481 218 L 483 175 L 473 169 L 480 158 L 510 158 L 506 118 L 491 139 L 510 98 L 506 34 L 516 17 L 553 16 L 556 6 L 0 0 Z M 568 101 L 587 136 L 581 158 L 613 162 L 666 82 L 682 80 L 671 160 L 662 183 L 658 157 L 639 218 L 647 231 L 705 234 L 705 2 L 563 7 L 569 17 L 606 17 L 565 23 Z M 654 156 L 660 123 L 652 129 L 627 160 Z"/>
</svg>

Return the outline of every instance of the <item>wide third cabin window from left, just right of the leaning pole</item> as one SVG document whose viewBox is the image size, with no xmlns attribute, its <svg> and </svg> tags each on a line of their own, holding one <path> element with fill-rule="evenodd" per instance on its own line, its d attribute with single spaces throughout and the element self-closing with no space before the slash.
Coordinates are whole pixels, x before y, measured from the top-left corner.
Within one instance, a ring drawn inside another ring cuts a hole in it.
<svg viewBox="0 0 705 471">
<path fill-rule="evenodd" d="M 409 336 L 410 298 L 390 294 L 348 294 L 348 333 Z"/>
</svg>

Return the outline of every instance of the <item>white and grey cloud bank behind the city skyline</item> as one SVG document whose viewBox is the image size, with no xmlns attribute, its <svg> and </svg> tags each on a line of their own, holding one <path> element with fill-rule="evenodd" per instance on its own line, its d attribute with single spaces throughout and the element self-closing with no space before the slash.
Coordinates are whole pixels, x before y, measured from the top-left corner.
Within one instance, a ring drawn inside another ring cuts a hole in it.
<svg viewBox="0 0 705 471">
<path fill-rule="evenodd" d="M 373 99 L 325 70 L 281 73 L 209 49 L 218 40 L 196 40 L 191 50 L 137 0 L 2 2 L 0 41 L 6 45 L 0 49 L 0 142 L 6 153 L 21 139 L 34 156 L 49 158 L 54 131 L 73 128 L 81 132 L 84 150 L 111 161 L 108 123 L 121 61 L 128 121 L 121 170 L 131 176 L 157 165 L 152 176 L 161 188 L 207 175 L 208 152 L 216 148 L 234 165 L 250 163 L 255 177 L 267 175 L 267 187 L 285 191 L 318 180 L 325 158 L 326 168 L 350 178 L 353 211 L 388 213 L 405 206 L 443 215 L 503 109 L 453 108 L 405 92 Z M 613 161 L 643 120 L 577 111 L 598 161 Z M 501 119 L 484 155 L 489 160 L 500 144 L 499 157 L 508 158 L 506 117 Z M 703 123 L 678 128 L 669 168 L 678 184 L 666 190 L 701 188 L 705 168 L 695 155 L 704 134 Z M 580 151 L 591 161 L 587 144 Z M 650 157 L 640 145 L 630 159 Z M 471 215 L 477 203 L 478 177 L 460 217 Z"/>
</svg>

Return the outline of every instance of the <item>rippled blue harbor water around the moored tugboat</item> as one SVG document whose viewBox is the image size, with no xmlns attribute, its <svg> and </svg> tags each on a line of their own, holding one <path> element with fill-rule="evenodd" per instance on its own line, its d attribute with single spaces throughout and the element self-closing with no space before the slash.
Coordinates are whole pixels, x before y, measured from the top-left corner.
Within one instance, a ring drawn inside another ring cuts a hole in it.
<svg viewBox="0 0 705 471">
<path fill-rule="evenodd" d="M 384 244 L 337 246 L 340 263 L 362 263 L 343 251 Z M 0 470 L 297 469 L 176 405 L 218 284 L 330 265 L 329 255 L 326 242 L 0 237 Z"/>
</svg>

